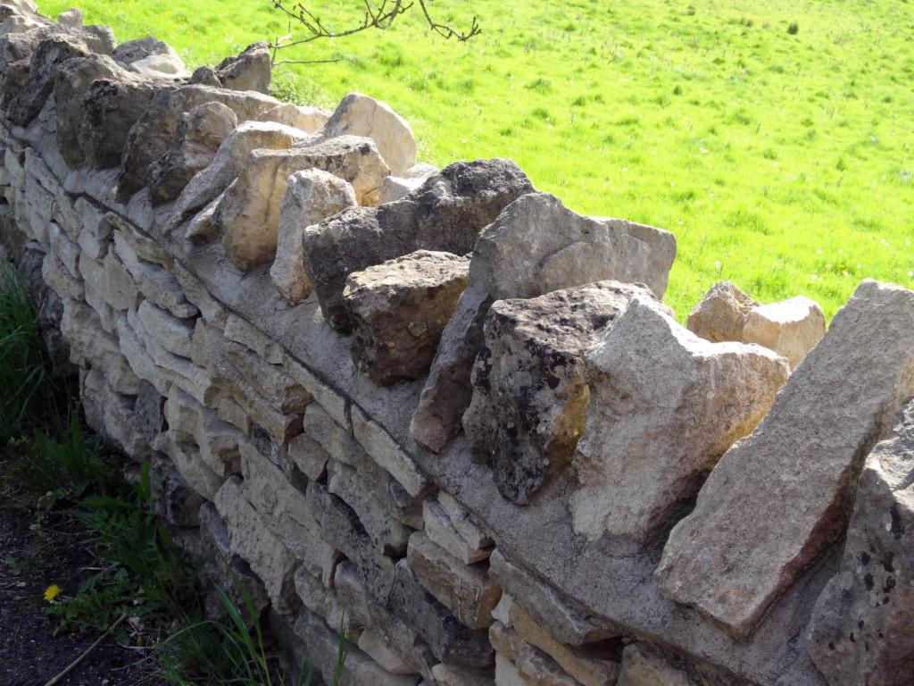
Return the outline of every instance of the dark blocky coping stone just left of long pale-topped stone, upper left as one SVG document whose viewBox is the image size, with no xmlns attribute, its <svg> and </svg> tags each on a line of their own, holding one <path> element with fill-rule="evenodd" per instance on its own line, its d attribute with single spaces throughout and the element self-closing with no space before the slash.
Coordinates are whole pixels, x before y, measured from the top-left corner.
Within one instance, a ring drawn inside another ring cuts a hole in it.
<svg viewBox="0 0 914 686">
<path fill-rule="evenodd" d="M 121 72 L 91 82 L 82 98 L 79 120 L 82 158 L 91 168 L 121 164 L 122 150 L 133 125 L 146 112 L 154 92 L 153 82 Z"/>
</svg>

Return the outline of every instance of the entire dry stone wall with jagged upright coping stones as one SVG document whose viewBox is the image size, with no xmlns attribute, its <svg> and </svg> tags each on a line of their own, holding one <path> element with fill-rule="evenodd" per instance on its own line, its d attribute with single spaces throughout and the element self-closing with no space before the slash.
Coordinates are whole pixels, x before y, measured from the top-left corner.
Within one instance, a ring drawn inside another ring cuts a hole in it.
<svg viewBox="0 0 914 686">
<path fill-rule="evenodd" d="M 278 102 L 262 45 L 0 18 L 4 256 L 214 612 L 221 558 L 353 686 L 914 683 L 914 293 L 682 327 L 672 234 Z"/>
</svg>

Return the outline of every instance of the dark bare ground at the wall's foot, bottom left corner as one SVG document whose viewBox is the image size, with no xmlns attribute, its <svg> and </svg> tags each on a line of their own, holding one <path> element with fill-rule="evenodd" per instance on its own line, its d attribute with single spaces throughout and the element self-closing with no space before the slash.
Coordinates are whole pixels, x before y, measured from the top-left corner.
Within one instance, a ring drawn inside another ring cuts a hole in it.
<svg viewBox="0 0 914 686">
<path fill-rule="evenodd" d="M 0 470 L 4 468 L 0 460 Z M 0 686 L 44 686 L 99 637 L 54 636 L 57 617 L 45 612 L 45 589 L 72 593 L 86 574 L 80 533 L 62 520 L 45 522 L 42 541 L 30 527 L 31 504 L 0 493 Z M 111 638 L 58 683 L 60 686 L 151 686 L 137 664 L 142 654 Z"/>
</svg>

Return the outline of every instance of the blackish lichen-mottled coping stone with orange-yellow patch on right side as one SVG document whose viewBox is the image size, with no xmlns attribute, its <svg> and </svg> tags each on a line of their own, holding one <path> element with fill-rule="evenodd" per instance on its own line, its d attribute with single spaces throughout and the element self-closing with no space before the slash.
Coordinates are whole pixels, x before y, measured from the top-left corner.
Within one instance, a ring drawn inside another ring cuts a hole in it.
<svg viewBox="0 0 914 686">
<path fill-rule="evenodd" d="M 462 423 L 505 498 L 528 503 L 570 465 L 590 402 L 584 358 L 635 295 L 654 300 L 643 285 L 603 281 L 489 309 Z"/>
</svg>

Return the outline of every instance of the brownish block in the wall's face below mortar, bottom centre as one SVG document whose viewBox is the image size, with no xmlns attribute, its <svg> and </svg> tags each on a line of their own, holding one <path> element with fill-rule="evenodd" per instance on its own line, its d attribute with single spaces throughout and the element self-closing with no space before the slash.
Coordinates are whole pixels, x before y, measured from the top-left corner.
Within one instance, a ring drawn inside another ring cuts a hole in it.
<svg viewBox="0 0 914 686">
<path fill-rule="evenodd" d="M 409 539 L 409 567 L 462 624 L 487 628 L 502 590 L 489 578 L 484 565 L 467 565 L 420 531 Z"/>
</svg>

